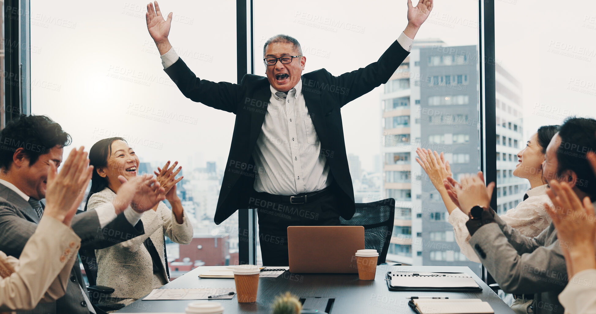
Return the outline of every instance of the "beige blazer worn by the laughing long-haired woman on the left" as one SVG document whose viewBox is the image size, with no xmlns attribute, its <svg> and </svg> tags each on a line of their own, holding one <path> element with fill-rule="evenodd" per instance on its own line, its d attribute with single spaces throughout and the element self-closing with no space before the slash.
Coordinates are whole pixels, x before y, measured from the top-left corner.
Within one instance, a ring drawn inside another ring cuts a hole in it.
<svg viewBox="0 0 596 314">
<path fill-rule="evenodd" d="M 89 208 L 94 208 L 103 202 L 114 200 L 116 194 L 109 188 L 91 195 Z M 97 258 L 97 284 L 114 288 L 116 291 L 110 297 L 139 299 L 153 289 L 153 261 L 143 242 L 147 237 L 155 245 L 162 261 L 162 275 L 165 282 L 169 282 L 163 256 L 163 236 L 179 244 L 189 244 L 193 240 L 193 226 L 182 216 L 182 224 L 176 222 L 176 217 L 166 204 L 160 202 L 157 210 L 148 210 L 141 216 L 145 234 L 131 240 L 113 245 L 101 250 L 95 250 Z M 122 235 L 126 237 L 126 235 Z"/>
</svg>

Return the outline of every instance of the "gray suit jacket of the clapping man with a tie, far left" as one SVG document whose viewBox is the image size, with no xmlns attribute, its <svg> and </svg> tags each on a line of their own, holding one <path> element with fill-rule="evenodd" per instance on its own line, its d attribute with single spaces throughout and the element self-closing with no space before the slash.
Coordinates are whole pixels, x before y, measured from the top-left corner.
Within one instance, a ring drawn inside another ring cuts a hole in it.
<svg viewBox="0 0 596 314">
<path fill-rule="evenodd" d="M 18 258 L 38 223 L 39 217 L 30 204 L 12 189 L 0 184 L 0 251 Z M 122 213 L 107 226 L 100 228 L 95 210 L 76 214 L 71 226 L 81 239 L 81 248 L 88 250 L 110 247 L 144 233 L 142 222 L 132 226 Z M 87 293 L 79 263 L 75 263 L 64 297 L 52 303 L 40 303 L 33 310 L 18 313 L 89 314 L 91 304 L 86 304 L 81 289 Z M 100 310 L 97 312 L 103 313 Z"/>
</svg>

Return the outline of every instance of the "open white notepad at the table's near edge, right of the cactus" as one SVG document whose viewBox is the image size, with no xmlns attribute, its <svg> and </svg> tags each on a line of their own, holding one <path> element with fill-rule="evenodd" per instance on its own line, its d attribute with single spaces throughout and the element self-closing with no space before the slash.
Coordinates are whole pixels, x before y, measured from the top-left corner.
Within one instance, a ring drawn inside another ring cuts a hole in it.
<svg viewBox="0 0 596 314">
<path fill-rule="evenodd" d="M 418 314 L 495 313 L 491 304 L 480 299 L 416 299 L 408 304 Z"/>
</svg>

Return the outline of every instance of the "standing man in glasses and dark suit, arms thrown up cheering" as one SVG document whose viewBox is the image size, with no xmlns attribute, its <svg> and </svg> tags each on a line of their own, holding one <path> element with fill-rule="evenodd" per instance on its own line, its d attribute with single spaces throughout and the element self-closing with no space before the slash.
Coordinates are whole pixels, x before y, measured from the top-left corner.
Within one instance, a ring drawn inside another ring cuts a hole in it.
<svg viewBox="0 0 596 314">
<path fill-rule="evenodd" d="M 306 57 L 287 35 L 263 47 L 266 77 L 246 74 L 240 84 L 201 80 L 176 55 L 157 1 L 147 5 L 147 29 L 164 70 L 193 101 L 236 114 L 215 223 L 237 209 L 254 208 L 264 265 L 288 265 L 287 227 L 339 225 L 355 212 L 340 109 L 386 83 L 409 54 L 433 0 L 408 0 L 408 26 L 380 59 L 333 76 L 303 74 Z"/>
</svg>

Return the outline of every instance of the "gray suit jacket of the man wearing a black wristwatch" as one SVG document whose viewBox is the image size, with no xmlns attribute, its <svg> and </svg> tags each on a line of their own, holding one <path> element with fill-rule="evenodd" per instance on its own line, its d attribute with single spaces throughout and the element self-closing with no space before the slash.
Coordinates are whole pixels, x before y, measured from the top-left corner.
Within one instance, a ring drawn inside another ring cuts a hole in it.
<svg viewBox="0 0 596 314">
<path fill-rule="evenodd" d="M 534 313 L 560 313 L 558 294 L 567 285 L 567 269 L 557 230 L 551 223 L 529 238 L 495 215 L 470 238 L 482 265 L 506 293 L 534 294 Z"/>
</svg>

